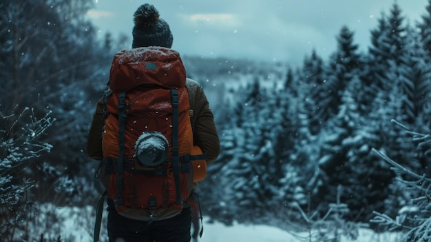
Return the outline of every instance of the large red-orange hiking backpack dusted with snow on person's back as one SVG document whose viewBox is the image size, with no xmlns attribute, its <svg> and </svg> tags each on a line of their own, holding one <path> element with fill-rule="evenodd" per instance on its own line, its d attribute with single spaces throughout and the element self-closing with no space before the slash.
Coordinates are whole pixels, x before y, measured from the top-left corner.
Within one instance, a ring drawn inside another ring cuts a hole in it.
<svg viewBox="0 0 431 242">
<path fill-rule="evenodd" d="M 105 93 L 105 158 L 99 176 L 118 214 L 151 222 L 181 212 L 193 181 L 204 177 L 196 173 L 193 178 L 193 165 L 195 172 L 202 170 L 206 157 L 193 153 L 200 149 L 193 147 L 192 113 L 178 52 L 145 47 L 115 54 Z"/>
</svg>

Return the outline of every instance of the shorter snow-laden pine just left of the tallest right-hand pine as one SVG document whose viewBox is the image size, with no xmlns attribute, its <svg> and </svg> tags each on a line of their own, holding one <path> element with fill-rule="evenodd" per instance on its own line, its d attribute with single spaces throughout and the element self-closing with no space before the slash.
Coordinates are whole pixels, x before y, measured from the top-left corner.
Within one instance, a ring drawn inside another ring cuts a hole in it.
<svg viewBox="0 0 431 242">
<path fill-rule="evenodd" d="M 359 112 L 356 100 L 361 81 L 353 79 L 350 84 L 344 93 L 339 119 L 335 120 L 337 127 L 346 127 L 350 134 L 341 141 L 340 150 L 346 150 L 346 158 L 340 168 L 342 172 L 336 177 L 344 187 L 343 200 L 351 210 L 350 219 L 358 217 L 361 222 L 368 222 L 372 211 L 386 208 L 383 201 L 388 196 L 392 175 L 387 165 L 372 154 L 372 145 L 379 143 L 379 130 L 374 121 Z"/>
</svg>

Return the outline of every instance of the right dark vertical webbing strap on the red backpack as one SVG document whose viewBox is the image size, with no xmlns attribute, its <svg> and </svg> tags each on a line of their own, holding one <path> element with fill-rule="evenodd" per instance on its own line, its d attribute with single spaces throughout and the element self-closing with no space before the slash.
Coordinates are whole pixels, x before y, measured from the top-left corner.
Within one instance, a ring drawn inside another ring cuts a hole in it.
<svg viewBox="0 0 431 242">
<path fill-rule="evenodd" d="M 176 187 L 176 203 L 182 204 L 180 190 L 180 148 L 178 146 L 178 91 L 171 89 L 172 97 L 172 170 Z"/>
</svg>

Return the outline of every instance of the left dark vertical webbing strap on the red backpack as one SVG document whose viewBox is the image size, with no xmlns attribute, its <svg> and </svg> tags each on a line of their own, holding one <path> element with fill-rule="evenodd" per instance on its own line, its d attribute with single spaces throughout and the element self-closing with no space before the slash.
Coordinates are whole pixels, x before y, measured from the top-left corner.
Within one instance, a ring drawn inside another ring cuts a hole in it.
<svg viewBox="0 0 431 242">
<path fill-rule="evenodd" d="M 125 129 L 126 129 L 126 93 L 121 92 L 118 95 L 118 145 L 120 148 L 120 152 L 118 153 L 117 159 L 117 188 L 118 188 L 118 196 L 117 203 L 118 205 L 123 205 L 123 159 L 125 152 Z"/>
</svg>

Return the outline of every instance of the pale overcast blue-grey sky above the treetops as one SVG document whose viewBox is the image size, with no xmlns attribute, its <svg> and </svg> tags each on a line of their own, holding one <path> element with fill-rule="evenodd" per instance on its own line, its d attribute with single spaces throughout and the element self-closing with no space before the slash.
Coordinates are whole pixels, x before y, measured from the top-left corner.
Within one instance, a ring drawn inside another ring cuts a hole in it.
<svg viewBox="0 0 431 242">
<path fill-rule="evenodd" d="M 94 0 L 88 13 L 98 34 L 120 32 L 132 40 L 133 14 L 143 3 L 158 9 L 174 34 L 172 48 L 182 55 L 302 63 L 313 49 L 326 59 L 346 25 L 366 50 L 370 30 L 395 0 Z M 428 0 L 397 0 L 403 16 L 415 23 Z"/>
</svg>

